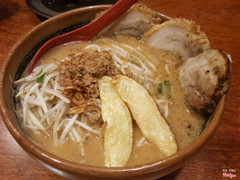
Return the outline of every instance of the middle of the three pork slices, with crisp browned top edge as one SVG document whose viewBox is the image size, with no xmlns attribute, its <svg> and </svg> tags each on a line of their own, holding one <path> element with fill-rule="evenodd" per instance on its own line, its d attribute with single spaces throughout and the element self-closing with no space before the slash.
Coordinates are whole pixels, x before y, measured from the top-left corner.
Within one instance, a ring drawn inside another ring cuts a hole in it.
<svg viewBox="0 0 240 180">
<path fill-rule="evenodd" d="M 153 26 L 142 40 L 148 45 L 179 54 L 183 60 L 210 48 L 207 36 L 193 21 L 174 18 Z"/>
</svg>

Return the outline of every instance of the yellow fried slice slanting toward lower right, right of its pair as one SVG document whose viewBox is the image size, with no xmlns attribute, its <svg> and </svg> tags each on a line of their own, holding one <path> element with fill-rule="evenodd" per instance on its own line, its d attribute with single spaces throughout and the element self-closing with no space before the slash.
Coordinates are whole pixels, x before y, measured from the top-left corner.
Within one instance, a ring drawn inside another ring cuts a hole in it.
<svg viewBox="0 0 240 180">
<path fill-rule="evenodd" d="M 174 135 L 148 91 L 126 76 L 118 75 L 111 83 L 129 107 L 147 140 L 156 145 L 166 156 L 175 153 L 177 144 Z"/>
</svg>

